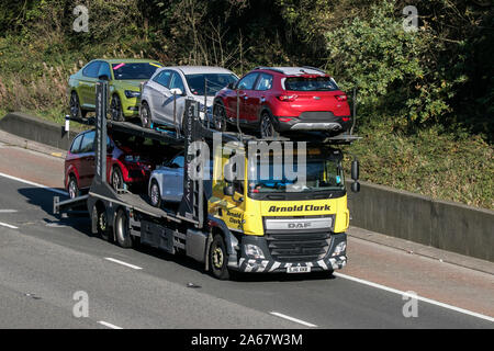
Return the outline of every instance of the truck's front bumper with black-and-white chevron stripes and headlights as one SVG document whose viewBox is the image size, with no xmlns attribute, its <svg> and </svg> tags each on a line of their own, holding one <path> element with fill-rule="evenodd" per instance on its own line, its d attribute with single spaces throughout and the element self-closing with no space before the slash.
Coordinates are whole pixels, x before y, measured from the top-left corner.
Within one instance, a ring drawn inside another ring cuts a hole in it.
<svg viewBox="0 0 494 351">
<path fill-rule="evenodd" d="M 347 264 L 347 256 L 346 250 L 335 254 L 335 248 L 341 242 L 346 244 L 346 240 L 347 236 L 345 233 L 333 234 L 327 253 L 323 258 L 310 261 L 278 261 L 271 257 L 266 237 L 243 236 L 239 242 L 238 262 L 236 260 L 229 261 L 228 268 L 246 273 L 287 273 L 290 267 L 310 267 L 311 272 L 339 270 Z M 265 258 L 254 259 L 247 256 L 243 249 L 247 244 L 258 246 L 262 250 Z"/>
</svg>

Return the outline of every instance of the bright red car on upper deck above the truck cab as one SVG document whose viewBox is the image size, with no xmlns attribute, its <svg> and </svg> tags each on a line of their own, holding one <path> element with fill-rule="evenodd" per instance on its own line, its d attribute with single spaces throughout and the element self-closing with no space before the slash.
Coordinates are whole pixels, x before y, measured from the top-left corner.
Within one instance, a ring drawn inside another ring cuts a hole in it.
<svg viewBox="0 0 494 351">
<path fill-rule="evenodd" d="M 347 95 L 324 71 L 311 67 L 257 67 L 214 100 L 214 124 L 257 129 L 261 137 L 289 131 L 326 131 L 333 135 L 351 127 Z"/>
</svg>

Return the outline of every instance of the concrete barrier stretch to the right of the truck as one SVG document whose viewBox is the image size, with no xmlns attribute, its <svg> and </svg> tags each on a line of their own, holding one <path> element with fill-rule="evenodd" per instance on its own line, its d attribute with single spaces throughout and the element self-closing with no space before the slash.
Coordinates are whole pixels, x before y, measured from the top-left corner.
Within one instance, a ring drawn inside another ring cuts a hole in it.
<svg viewBox="0 0 494 351">
<path fill-rule="evenodd" d="M 494 261 L 494 211 L 360 183 L 348 192 L 352 226 Z"/>
</svg>

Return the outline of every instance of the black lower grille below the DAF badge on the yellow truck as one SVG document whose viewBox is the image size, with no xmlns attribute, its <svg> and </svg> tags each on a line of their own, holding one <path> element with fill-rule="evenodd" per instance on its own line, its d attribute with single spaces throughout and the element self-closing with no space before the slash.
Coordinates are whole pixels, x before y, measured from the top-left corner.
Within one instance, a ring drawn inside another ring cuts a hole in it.
<svg viewBox="0 0 494 351">
<path fill-rule="evenodd" d="M 330 233 L 267 234 L 269 252 L 279 262 L 310 262 L 324 258 Z"/>
</svg>

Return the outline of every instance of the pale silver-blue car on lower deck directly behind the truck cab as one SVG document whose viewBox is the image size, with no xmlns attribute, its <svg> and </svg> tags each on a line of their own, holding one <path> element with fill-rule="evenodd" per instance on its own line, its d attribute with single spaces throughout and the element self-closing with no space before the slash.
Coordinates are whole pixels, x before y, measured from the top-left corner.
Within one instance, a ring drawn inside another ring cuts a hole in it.
<svg viewBox="0 0 494 351">
<path fill-rule="evenodd" d="M 183 151 L 176 155 L 162 166 L 158 166 L 149 177 L 148 194 L 150 204 L 160 207 L 161 203 L 179 203 L 183 196 Z M 209 199 L 212 193 L 212 160 L 205 165 L 204 173 L 209 180 L 204 181 L 204 195 Z"/>
</svg>

